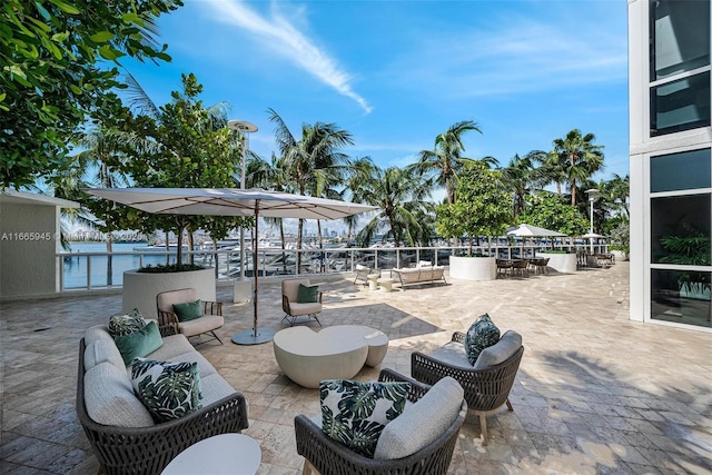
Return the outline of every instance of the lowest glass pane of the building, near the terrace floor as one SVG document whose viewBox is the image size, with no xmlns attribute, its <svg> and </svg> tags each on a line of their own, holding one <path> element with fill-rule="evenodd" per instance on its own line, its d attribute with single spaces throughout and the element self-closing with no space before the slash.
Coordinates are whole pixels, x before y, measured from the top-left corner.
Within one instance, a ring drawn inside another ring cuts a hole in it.
<svg viewBox="0 0 712 475">
<path fill-rule="evenodd" d="M 712 327 L 710 273 L 652 269 L 651 318 Z"/>
</svg>

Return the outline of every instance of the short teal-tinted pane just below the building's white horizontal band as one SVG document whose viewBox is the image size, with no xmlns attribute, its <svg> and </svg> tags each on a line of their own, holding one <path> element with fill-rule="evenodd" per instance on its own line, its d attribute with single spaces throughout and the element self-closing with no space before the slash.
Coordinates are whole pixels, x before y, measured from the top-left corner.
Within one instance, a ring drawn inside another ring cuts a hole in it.
<svg viewBox="0 0 712 475">
<path fill-rule="evenodd" d="M 710 188 L 710 149 L 663 155 L 650 159 L 650 191 Z"/>
</svg>

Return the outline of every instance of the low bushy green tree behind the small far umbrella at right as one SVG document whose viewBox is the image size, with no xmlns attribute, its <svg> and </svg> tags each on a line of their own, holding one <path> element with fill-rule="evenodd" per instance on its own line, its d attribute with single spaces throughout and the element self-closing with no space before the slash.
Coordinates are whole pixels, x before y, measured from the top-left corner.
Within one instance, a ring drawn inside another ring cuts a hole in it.
<svg viewBox="0 0 712 475">
<path fill-rule="evenodd" d="M 575 206 L 550 191 L 528 196 L 520 220 L 566 236 L 581 236 L 589 229 L 589 221 Z"/>
</svg>

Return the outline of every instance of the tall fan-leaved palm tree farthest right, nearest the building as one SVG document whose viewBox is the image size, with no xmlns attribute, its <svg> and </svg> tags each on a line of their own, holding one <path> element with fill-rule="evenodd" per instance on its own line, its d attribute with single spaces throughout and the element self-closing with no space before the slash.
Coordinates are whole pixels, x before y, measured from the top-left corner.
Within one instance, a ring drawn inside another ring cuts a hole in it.
<svg viewBox="0 0 712 475">
<path fill-rule="evenodd" d="M 573 129 L 563 139 L 554 140 L 554 152 L 565 172 L 574 206 L 578 184 L 603 169 L 603 146 L 594 145 L 595 139 L 593 133 L 582 136 L 581 130 Z"/>
</svg>

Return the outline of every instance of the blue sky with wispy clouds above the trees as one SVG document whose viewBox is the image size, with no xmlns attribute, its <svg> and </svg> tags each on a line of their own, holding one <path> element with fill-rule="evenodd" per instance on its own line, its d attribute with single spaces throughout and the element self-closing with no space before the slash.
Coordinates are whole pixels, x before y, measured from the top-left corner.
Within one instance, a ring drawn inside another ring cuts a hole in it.
<svg viewBox="0 0 712 475">
<path fill-rule="evenodd" d="M 159 20 L 174 60 L 127 65 L 157 103 L 194 72 L 206 105 L 259 130 L 277 151 L 268 108 L 298 138 L 304 122 L 353 133 L 350 157 L 405 166 L 461 120 L 465 156 L 550 150 L 571 129 L 596 135 L 605 170 L 629 172 L 625 0 L 185 0 Z"/>
</svg>

